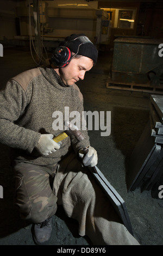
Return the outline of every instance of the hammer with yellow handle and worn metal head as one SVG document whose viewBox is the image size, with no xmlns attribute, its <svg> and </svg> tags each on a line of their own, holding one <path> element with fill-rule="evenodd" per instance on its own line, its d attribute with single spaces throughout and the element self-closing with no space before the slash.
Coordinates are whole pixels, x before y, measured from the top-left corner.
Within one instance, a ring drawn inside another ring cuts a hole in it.
<svg viewBox="0 0 163 256">
<path fill-rule="evenodd" d="M 64 132 L 61 132 L 57 137 L 54 137 L 53 140 L 55 142 L 60 142 L 62 139 L 65 139 L 68 136 L 74 135 L 78 141 L 83 141 L 84 137 L 82 135 L 82 132 L 78 130 L 78 127 L 76 125 L 72 125 L 70 121 L 65 120 L 65 126 L 67 126 L 68 130 L 65 130 Z"/>
</svg>

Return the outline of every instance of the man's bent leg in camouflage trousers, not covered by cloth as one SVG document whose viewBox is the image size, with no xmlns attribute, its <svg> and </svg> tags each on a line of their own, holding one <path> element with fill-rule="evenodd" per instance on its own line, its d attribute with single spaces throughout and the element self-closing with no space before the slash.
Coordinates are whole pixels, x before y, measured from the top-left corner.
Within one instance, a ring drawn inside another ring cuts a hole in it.
<svg viewBox="0 0 163 256">
<path fill-rule="evenodd" d="M 21 218 L 40 223 L 55 214 L 57 197 L 49 185 L 49 174 L 31 168 L 21 168 L 15 176 L 14 204 Z"/>
</svg>

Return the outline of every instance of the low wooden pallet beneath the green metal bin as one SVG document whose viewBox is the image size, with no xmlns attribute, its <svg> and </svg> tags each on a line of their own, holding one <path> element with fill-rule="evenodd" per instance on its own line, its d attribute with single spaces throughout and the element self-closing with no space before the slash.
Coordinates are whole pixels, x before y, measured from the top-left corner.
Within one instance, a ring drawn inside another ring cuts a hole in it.
<svg viewBox="0 0 163 256">
<path fill-rule="evenodd" d="M 119 90 L 131 90 L 134 92 L 156 93 L 163 94 L 163 84 L 161 86 L 151 86 L 151 84 L 137 84 L 137 83 L 120 83 L 112 81 L 108 78 L 106 81 L 106 88 L 119 89 Z"/>
</svg>

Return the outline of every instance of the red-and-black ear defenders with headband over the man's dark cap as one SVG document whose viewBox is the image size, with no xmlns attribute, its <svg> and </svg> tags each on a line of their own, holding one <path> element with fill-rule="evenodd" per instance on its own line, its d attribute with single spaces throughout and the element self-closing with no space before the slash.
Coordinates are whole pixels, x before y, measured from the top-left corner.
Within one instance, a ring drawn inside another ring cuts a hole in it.
<svg viewBox="0 0 163 256">
<path fill-rule="evenodd" d="M 81 35 L 78 38 L 75 38 L 75 39 L 70 40 L 70 41 L 66 41 L 64 45 L 66 45 L 68 42 L 75 41 L 77 39 L 78 39 L 77 44 L 79 44 L 79 45 L 78 45 L 77 53 L 74 54 L 74 56 L 76 56 L 78 54 L 80 45 L 87 44 L 87 43 L 91 43 L 92 44 L 92 42 L 89 40 L 89 38 L 87 38 L 87 36 Z M 72 53 L 71 53 L 71 51 L 70 51 L 70 49 L 68 47 L 66 47 L 66 46 L 59 46 L 53 52 L 52 63 L 54 65 L 58 66 L 59 68 L 64 68 L 65 66 L 68 65 L 68 63 L 70 63 L 70 60 L 74 56 L 72 56 Z"/>
</svg>

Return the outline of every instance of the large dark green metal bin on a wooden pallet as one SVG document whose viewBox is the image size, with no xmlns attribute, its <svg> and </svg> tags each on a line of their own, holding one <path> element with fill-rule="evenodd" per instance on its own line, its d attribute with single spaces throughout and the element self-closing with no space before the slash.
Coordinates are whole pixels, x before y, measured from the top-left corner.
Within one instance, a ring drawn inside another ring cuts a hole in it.
<svg viewBox="0 0 163 256">
<path fill-rule="evenodd" d="M 163 94 L 161 45 L 162 40 L 117 37 L 106 87 Z"/>
</svg>

